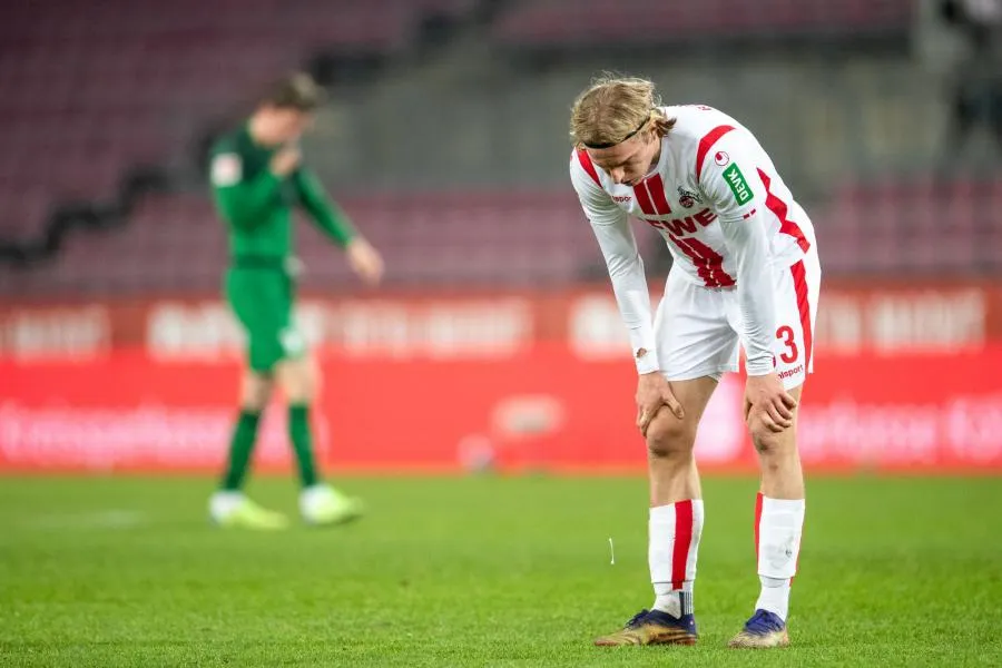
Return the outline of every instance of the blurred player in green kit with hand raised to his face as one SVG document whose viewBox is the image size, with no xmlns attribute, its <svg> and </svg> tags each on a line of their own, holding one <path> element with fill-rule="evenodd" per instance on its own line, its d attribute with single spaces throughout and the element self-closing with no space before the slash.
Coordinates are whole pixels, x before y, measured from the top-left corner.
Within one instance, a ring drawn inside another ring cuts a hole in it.
<svg viewBox="0 0 1002 668">
<path fill-rule="evenodd" d="M 379 253 L 362 238 L 324 194 L 317 177 L 302 165 L 299 137 L 308 127 L 321 90 L 306 75 L 279 81 L 250 118 L 213 147 L 209 178 L 216 208 L 229 233 L 225 294 L 247 340 L 240 411 L 229 460 L 209 515 L 224 527 L 281 529 L 284 515 L 265 510 L 242 492 L 257 438 L 261 413 L 277 384 L 288 402 L 288 435 L 298 463 L 299 511 L 312 524 L 332 524 L 362 512 L 357 499 L 323 483 L 313 454 L 310 405 L 318 373 L 294 320 L 293 206 L 344 248 L 365 282 L 383 273 Z"/>
</svg>

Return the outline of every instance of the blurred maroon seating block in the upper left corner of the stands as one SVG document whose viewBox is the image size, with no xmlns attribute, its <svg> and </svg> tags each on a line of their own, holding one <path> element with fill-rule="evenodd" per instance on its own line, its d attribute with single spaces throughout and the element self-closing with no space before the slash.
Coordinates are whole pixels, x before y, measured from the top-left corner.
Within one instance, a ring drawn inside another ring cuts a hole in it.
<svg viewBox="0 0 1002 668">
<path fill-rule="evenodd" d="M 132 165 L 166 161 L 320 46 L 391 51 L 422 17 L 473 0 L 128 0 L 4 3 L 0 237 L 35 236 L 67 199 L 110 197 Z M 250 92 L 248 92 L 250 91 Z M 22 197 L 22 194 L 27 194 Z"/>
</svg>

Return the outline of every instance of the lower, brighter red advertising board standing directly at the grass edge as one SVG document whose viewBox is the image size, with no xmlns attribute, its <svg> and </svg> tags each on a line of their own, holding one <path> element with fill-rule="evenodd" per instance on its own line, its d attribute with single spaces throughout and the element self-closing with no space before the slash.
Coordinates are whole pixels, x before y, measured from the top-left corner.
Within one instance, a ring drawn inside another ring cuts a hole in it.
<svg viewBox="0 0 1002 668">
<path fill-rule="evenodd" d="M 562 343 L 503 356 L 321 354 L 314 419 L 338 470 L 640 470 L 628 361 Z M 955 354 L 821 352 L 799 424 L 808 471 L 1002 472 L 1002 345 Z M 78 360 L 0 360 L 0 469 L 214 470 L 225 453 L 238 365 L 110 350 Z M 725 379 L 704 420 L 704 470 L 752 470 L 741 382 Z M 288 465 L 281 409 L 257 463 Z"/>
</svg>

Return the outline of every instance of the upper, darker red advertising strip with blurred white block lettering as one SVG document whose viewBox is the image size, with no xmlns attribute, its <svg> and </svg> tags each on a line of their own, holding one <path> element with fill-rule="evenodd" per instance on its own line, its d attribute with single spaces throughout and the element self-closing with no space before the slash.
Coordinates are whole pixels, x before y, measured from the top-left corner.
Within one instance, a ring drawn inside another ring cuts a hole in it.
<svg viewBox="0 0 1002 668">
<path fill-rule="evenodd" d="M 651 286 L 657 298 L 661 286 Z M 298 320 L 315 346 L 350 357 L 504 358 L 564 343 L 620 358 L 625 328 L 606 285 L 553 292 L 366 297 L 307 295 Z M 1002 286 L 826 281 L 815 344 L 839 354 L 953 354 L 1002 342 Z M 0 356 L 81 356 L 140 347 L 160 360 L 235 356 L 240 333 L 218 297 L 0 303 Z"/>
</svg>

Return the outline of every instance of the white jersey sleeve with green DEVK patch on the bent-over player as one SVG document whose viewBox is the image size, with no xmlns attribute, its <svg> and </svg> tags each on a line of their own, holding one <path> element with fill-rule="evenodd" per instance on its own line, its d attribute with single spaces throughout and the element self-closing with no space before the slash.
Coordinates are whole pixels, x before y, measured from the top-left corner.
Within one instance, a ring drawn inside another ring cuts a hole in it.
<svg viewBox="0 0 1002 668">
<path fill-rule="evenodd" d="M 728 132 L 696 169 L 700 189 L 720 217 L 727 250 L 735 259 L 748 375 L 765 375 L 774 367 L 776 304 L 763 214 L 765 191 L 756 185 L 760 185 L 759 179 L 749 178 L 757 174 L 754 151 L 739 131 Z"/>
</svg>

